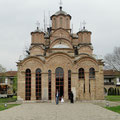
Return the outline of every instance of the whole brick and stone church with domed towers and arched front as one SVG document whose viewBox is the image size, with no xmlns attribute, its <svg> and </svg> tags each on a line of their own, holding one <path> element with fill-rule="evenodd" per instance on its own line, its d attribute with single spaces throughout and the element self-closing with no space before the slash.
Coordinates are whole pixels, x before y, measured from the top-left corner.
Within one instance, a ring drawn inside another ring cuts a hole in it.
<svg viewBox="0 0 120 120">
<path fill-rule="evenodd" d="M 18 100 L 104 99 L 103 62 L 93 57 L 91 32 L 72 33 L 71 16 L 60 10 L 51 16 L 52 27 L 31 32 L 29 56 L 17 62 Z"/>
</svg>

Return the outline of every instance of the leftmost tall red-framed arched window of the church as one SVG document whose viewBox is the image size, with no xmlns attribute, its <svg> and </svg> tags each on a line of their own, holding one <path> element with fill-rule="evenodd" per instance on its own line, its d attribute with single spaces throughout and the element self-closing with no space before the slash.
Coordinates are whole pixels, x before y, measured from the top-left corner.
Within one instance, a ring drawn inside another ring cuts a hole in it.
<svg viewBox="0 0 120 120">
<path fill-rule="evenodd" d="M 25 100 L 31 100 L 31 70 L 25 72 Z"/>
</svg>

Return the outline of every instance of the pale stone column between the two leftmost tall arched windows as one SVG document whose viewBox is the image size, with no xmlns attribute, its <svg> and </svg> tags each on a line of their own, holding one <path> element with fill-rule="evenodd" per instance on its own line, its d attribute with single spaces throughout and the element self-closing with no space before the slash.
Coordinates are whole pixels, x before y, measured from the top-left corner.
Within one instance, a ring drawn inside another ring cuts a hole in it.
<svg viewBox="0 0 120 120">
<path fill-rule="evenodd" d="M 31 73 L 31 100 L 36 100 L 36 76 L 35 73 Z"/>
</svg>

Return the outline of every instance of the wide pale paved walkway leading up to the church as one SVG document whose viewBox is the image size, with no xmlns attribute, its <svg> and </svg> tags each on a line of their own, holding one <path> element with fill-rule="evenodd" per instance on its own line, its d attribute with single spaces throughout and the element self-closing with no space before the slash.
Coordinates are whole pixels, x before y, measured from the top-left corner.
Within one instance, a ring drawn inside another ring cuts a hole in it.
<svg viewBox="0 0 120 120">
<path fill-rule="evenodd" d="M 120 120 L 120 114 L 92 103 L 26 103 L 1 111 L 0 120 Z"/>
</svg>

